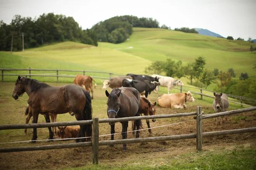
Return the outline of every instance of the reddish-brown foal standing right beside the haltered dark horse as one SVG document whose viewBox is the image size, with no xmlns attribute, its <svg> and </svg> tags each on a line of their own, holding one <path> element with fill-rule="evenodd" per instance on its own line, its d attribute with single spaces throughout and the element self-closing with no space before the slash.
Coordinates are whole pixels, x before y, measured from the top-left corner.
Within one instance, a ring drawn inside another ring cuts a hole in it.
<svg viewBox="0 0 256 170">
<path fill-rule="evenodd" d="M 144 116 L 152 116 L 152 115 L 155 115 L 156 114 L 156 102 L 154 104 L 152 104 L 150 102 L 149 99 L 147 99 L 146 97 L 144 96 L 140 96 L 140 105 L 141 105 L 141 114 L 143 113 Z M 152 122 L 155 122 L 156 119 L 152 119 Z M 149 119 L 146 119 L 146 122 L 147 122 L 147 128 L 150 128 L 150 125 L 149 125 Z M 132 134 L 135 134 L 135 126 L 134 126 L 134 122 L 132 122 L 132 126 L 131 126 L 131 129 L 133 130 Z M 149 133 L 151 134 L 151 129 L 148 129 Z"/>
</svg>

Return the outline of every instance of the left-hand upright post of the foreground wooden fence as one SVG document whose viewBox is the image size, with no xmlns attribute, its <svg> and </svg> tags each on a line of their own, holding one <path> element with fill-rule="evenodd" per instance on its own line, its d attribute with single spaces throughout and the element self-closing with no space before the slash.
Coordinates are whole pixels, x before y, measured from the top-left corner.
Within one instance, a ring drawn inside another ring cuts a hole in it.
<svg viewBox="0 0 256 170">
<path fill-rule="evenodd" d="M 92 164 L 99 163 L 99 117 L 92 119 Z"/>
</svg>

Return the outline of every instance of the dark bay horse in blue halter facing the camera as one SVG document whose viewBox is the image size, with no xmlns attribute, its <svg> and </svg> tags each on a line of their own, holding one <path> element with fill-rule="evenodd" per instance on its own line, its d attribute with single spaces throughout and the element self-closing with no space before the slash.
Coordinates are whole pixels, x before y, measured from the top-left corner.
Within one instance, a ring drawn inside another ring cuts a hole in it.
<svg viewBox="0 0 256 170">
<path fill-rule="evenodd" d="M 110 119 L 121 117 L 140 116 L 140 93 L 133 87 L 114 88 L 112 92 L 106 90 L 107 100 L 107 116 Z M 140 120 L 136 122 L 136 128 L 142 127 Z M 109 123 L 111 126 L 111 140 L 114 140 L 115 123 Z M 127 138 L 128 121 L 121 122 L 122 139 Z M 139 131 L 136 131 L 136 138 L 139 138 Z M 127 151 L 126 144 L 123 144 L 123 151 Z"/>
</svg>

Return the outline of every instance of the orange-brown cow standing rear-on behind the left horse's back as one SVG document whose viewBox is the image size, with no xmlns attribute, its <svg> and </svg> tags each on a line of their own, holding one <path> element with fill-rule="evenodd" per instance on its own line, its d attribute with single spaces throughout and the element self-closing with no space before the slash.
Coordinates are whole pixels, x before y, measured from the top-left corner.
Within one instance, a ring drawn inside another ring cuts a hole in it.
<svg viewBox="0 0 256 170">
<path fill-rule="evenodd" d="M 74 79 L 74 84 L 80 85 L 89 93 L 92 92 L 92 99 L 93 99 L 93 86 L 92 81 L 95 83 L 91 76 L 84 76 L 84 75 L 77 75 Z M 96 88 L 97 84 L 95 83 L 94 88 Z"/>
</svg>

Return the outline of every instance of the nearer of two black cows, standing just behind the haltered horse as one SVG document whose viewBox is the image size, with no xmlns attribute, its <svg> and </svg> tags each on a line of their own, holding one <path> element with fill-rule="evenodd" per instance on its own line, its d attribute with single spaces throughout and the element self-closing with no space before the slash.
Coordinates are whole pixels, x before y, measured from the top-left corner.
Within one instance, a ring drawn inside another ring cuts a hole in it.
<svg viewBox="0 0 256 170">
<path fill-rule="evenodd" d="M 133 87 L 140 93 L 145 91 L 145 97 L 147 97 L 147 95 L 150 94 L 157 85 L 159 85 L 159 82 L 150 82 L 149 80 L 132 80 L 126 78 L 122 81 L 123 87 Z"/>
</svg>

